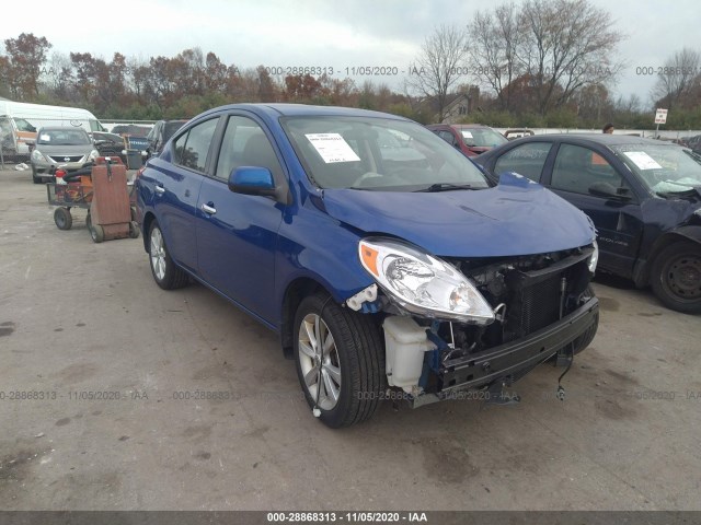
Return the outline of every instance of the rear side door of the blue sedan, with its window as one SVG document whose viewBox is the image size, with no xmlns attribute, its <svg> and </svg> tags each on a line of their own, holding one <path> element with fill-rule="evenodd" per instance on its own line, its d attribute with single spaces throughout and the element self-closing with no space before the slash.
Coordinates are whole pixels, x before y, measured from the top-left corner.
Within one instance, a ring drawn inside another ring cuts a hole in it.
<svg viewBox="0 0 701 525">
<path fill-rule="evenodd" d="M 195 215 L 204 174 L 210 170 L 212 137 L 219 117 L 191 127 L 173 144 L 172 162 L 154 162 L 153 210 L 171 257 L 195 272 Z"/>
</svg>

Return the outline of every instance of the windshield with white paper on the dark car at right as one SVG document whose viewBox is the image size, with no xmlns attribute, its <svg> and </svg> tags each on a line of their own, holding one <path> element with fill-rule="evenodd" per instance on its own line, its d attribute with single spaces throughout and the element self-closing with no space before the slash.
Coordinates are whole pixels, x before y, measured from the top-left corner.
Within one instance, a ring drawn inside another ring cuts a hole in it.
<svg viewBox="0 0 701 525">
<path fill-rule="evenodd" d="M 674 144 L 613 145 L 616 154 L 656 194 L 701 186 L 701 158 Z"/>
</svg>

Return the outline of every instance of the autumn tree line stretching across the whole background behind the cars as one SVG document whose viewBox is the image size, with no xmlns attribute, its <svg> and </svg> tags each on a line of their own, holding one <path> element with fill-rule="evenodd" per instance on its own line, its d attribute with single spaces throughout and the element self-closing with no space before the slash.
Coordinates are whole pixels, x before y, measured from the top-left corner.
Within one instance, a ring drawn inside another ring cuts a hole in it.
<svg viewBox="0 0 701 525">
<path fill-rule="evenodd" d="M 184 49 L 148 60 L 115 52 L 51 51 L 43 36 L 4 40 L 0 96 L 72 105 L 102 119 L 186 118 L 234 102 L 298 102 L 378 109 L 427 124 L 450 116 L 496 127 L 652 128 L 667 107 L 676 129 L 701 128 L 701 60 L 681 49 L 653 74 L 651 93 L 613 98 L 627 65 L 617 48 L 625 36 L 609 13 L 588 0 L 526 0 L 479 11 L 462 26 L 438 26 L 423 42 L 403 85 L 329 74 L 271 74 L 264 66 L 226 65 L 214 52 Z M 469 94 L 467 114 L 449 115 Z M 645 102 L 643 102 L 645 97 Z"/>
</svg>

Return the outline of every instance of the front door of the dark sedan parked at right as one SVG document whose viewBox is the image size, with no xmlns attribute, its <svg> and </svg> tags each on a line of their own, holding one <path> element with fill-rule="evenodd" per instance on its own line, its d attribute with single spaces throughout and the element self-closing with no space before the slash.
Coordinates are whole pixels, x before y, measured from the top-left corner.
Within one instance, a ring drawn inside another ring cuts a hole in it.
<svg viewBox="0 0 701 525">
<path fill-rule="evenodd" d="M 550 189 L 594 221 L 600 250 L 599 265 L 630 277 L 642 238 L 643 220 L 634 190 L 614 168 L 613 160 L 602 150 L 562 142 L 547 177 Z M 620 188 L 619 191 L 629 199 L 594 196 L 589 188 L 595 183 Z"/>
</svg>

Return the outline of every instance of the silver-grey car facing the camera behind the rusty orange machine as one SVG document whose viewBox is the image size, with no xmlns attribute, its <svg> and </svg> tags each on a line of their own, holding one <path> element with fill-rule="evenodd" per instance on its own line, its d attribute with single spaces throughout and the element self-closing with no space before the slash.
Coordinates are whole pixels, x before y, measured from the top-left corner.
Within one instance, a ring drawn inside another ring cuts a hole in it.
<svg viewBox="0 0 701 525">
<path fill-rule="evenodd" d="M 31 156 L 32 179 L 39 184 L 44 177 L 53 177 L 53 168 L 57 166 L 62 166 L 68 173 L 74 172 L 99 155 L 95 144 L 82 128 L 41 128 Z"/>
</svg>

